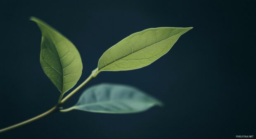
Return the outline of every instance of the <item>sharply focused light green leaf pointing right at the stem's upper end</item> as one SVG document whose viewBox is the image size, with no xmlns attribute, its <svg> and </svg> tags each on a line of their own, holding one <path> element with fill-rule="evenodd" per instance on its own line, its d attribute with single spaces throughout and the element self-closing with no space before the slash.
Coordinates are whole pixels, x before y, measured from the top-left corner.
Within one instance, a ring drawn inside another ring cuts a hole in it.
<svg viewBox="0 0 256 139">
<path fill-rule="evenodd" d="M 98 73 L 145 67 L 167 53 L 179 37 L 190 29 L 192 27 L 164 27 L 136 32 L 103 53 L 97 67 Z"/>
</svg>

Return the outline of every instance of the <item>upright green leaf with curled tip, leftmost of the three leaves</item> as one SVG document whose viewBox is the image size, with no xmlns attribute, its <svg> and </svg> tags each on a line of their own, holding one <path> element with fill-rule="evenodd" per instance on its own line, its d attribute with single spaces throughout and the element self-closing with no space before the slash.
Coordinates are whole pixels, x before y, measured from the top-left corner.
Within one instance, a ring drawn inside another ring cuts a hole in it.
<svg viewBox="0 0 256 139">
<path fill-rule="evenodd" d="M 41 32 L 40 63 L 45 74 L 62 95 L 77 83 L 82 74 L 82 60 L 76 47 L 47 23 L 31 17 Z"/>
</svg>

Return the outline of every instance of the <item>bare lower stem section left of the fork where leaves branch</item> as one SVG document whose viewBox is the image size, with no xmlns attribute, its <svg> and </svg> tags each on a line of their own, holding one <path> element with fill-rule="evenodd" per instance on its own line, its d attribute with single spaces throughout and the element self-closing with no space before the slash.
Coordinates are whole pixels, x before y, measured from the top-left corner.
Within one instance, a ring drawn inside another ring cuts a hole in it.
<svg viewBox="0 0 256 139">
<path fill-rule="evenodd" d="M 1 130 L 0 130 L 0 133 L 5 132 L 5 131 L 8 131 L 8 130 L 12 130 L 12 129 L 14 129 L 14 128 L 20 127 L 20 126 L 22 126 L 22 125 L 26 125 L 26 124 L 28 124 L 28 123 L 31 123 L 31 122 L 35 121 L 35 120 L 38 120 L 38 119 L 40 119 L 40 118 L 43 118 L 43 117 L 45 117 L 45 116 L 51 114 L 52 112 L 56 111 L 57 109 L 58 109 L 58 106 L 55 106 L 55 107 L 53 107 L 52 109 L 46 111 L 46 112 L 43 113 L 43 114 L 40 114 L 40 115 L 34 117 L 34 118 L 31 118 L 31 119 L 25 120 L 25 121 L 23 121 L 23 122 L 21 122 L 21 123 L 18 123 L 18 124 L 16 124 L 16 125 L 12 125 L 12 126 L 9 126 L 9 127 L 4 128 L 4 129 L 1 129 Z"/>
</svg>

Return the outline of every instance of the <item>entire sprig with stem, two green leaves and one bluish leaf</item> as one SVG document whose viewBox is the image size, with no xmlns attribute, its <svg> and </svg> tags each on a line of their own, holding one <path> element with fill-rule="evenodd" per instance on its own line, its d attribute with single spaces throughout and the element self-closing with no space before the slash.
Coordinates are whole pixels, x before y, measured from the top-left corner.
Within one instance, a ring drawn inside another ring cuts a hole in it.
<svg viewBox="0 0 256 139">
<path fill-rule="evenodd" d="M 52 109 L 24 122 L 1 129 L 0 133 L 38 120 L 53 112 L 77 109 L 98 113 L 128 114 L 145 111 L 156 105 L 161 106 L 162 103 L 159 100 L 137 88 L 103 83 L 85 90 L 73 107 L 67 109 L 61 107 L 100 72 L 126 71 L 145 67 L 166 54 L 181 35 L 192 29 L 192 27 L 149 28 L 124 38 L 104 52 L 97 68 L 90 76 L 63 98 L 64 94 L 76 85 L 82 74 L 81 56 L 73 43 L 50 25 L 36 17 L 31 17 L 31 21 L 36 22 L 42 32 L 40 64 L 45 74 L 60 91 L 60 97 L 57 105 Z"/>
</svg>

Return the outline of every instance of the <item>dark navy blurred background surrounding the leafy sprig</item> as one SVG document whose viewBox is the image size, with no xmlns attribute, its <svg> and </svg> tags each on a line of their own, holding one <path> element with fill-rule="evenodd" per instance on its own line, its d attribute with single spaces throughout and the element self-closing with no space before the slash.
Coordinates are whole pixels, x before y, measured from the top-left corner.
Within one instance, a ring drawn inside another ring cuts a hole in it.
<svg viewBox="0 0 256 139">
<path fill-rule="evenodd" d="M 138 114 L 56 113 L 0 139 L 234 139 L 256 136 L 255 0 L 8 0 L 0 2 L 0 128 L 53 107 L 59 91 L 39 63 L 36 16 L 80 51 L 82 83 L 102 53 L 154 27 L 194 27 L 142 69 L 101 72 L 98 83 L 135 86 L 162 100 Z"/>
</svg>

